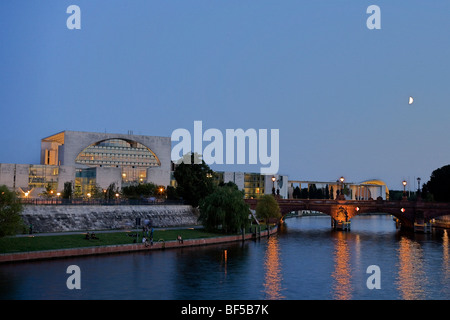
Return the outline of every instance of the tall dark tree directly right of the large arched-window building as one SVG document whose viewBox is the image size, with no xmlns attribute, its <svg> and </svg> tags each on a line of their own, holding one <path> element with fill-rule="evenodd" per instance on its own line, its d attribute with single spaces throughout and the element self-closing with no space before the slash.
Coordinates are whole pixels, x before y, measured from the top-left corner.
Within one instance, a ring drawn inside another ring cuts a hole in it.
<svg viewBox="0 0 450 320">
<path fill-rule="evenodd" d="M 177 193 L 188 204 L 198 207 L 200 200 L 214 191 L 214 171 L 202 160 L 201 163 L 194 162 L 196 154 L 190 154 L 190 163 L 184 161 L 178 164 L 174 171 L 177 181 Z M 197 161 L 196 161 L 197 162 Z"/>
</svg>

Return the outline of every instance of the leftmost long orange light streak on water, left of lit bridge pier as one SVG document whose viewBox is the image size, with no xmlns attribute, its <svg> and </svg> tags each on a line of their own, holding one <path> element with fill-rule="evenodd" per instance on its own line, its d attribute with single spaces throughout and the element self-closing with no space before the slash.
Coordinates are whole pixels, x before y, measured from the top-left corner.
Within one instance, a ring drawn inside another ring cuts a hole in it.
<svg viewBox="0 0 450 320">
<path fill-rule="evenodd" d="M 264 293 L 265 299 L 278 300 L 283 299 L 281 294 L 281 262 L 280 262 L 280 248 L 278 237 L 270 237 L 267 243 L 267 250 L 265 255 L 265 277 L 264 277 Z"/>
</svg>

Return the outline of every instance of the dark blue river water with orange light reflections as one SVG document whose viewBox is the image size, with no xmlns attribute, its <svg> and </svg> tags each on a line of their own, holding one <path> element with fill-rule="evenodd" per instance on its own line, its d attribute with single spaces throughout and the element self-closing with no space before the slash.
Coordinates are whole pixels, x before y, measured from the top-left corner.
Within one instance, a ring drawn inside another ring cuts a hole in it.
<svg viewBox="0 0 450 320">
<path fill-rule="evenodd" d="M 81 289 L 66 285 L 70 265 Z M 289 218 L 256 241 L 3 264 L 0 299 L 449 300 L 449 232 L 405 233 L 387 215 L 355 217 L 350 232 Z"/>
</svg>

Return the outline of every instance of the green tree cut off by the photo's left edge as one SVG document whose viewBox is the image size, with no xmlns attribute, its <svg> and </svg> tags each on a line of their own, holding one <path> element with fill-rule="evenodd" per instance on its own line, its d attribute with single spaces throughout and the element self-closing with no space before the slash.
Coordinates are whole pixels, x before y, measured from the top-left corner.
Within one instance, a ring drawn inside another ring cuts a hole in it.
<svg viewBox="0 0 450 320">
<path fill-rule="evenodd" d="M 5 185 L 0 186 L 0 237 L 14 235 L 24 228 L 20 213 L 22 204 L 14 192 Z"/>
</svg>

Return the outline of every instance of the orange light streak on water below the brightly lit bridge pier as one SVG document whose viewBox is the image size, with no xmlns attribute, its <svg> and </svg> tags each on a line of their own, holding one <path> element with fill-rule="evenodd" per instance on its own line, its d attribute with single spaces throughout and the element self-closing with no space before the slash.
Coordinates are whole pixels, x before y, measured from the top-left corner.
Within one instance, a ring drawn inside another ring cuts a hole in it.
<svg viewBox="0 0 450 320">
<path fill-rule="evenodd" d="M 346 234 L 339 232 L 336 236 L 337 240 L 334 248 L 335 269 L 331 275 L 335 280 L 332 287 L 333 299 L 350 300 L 352 298 L 350 250 L 348 242 L 344 238 Z"/>
</svg>

